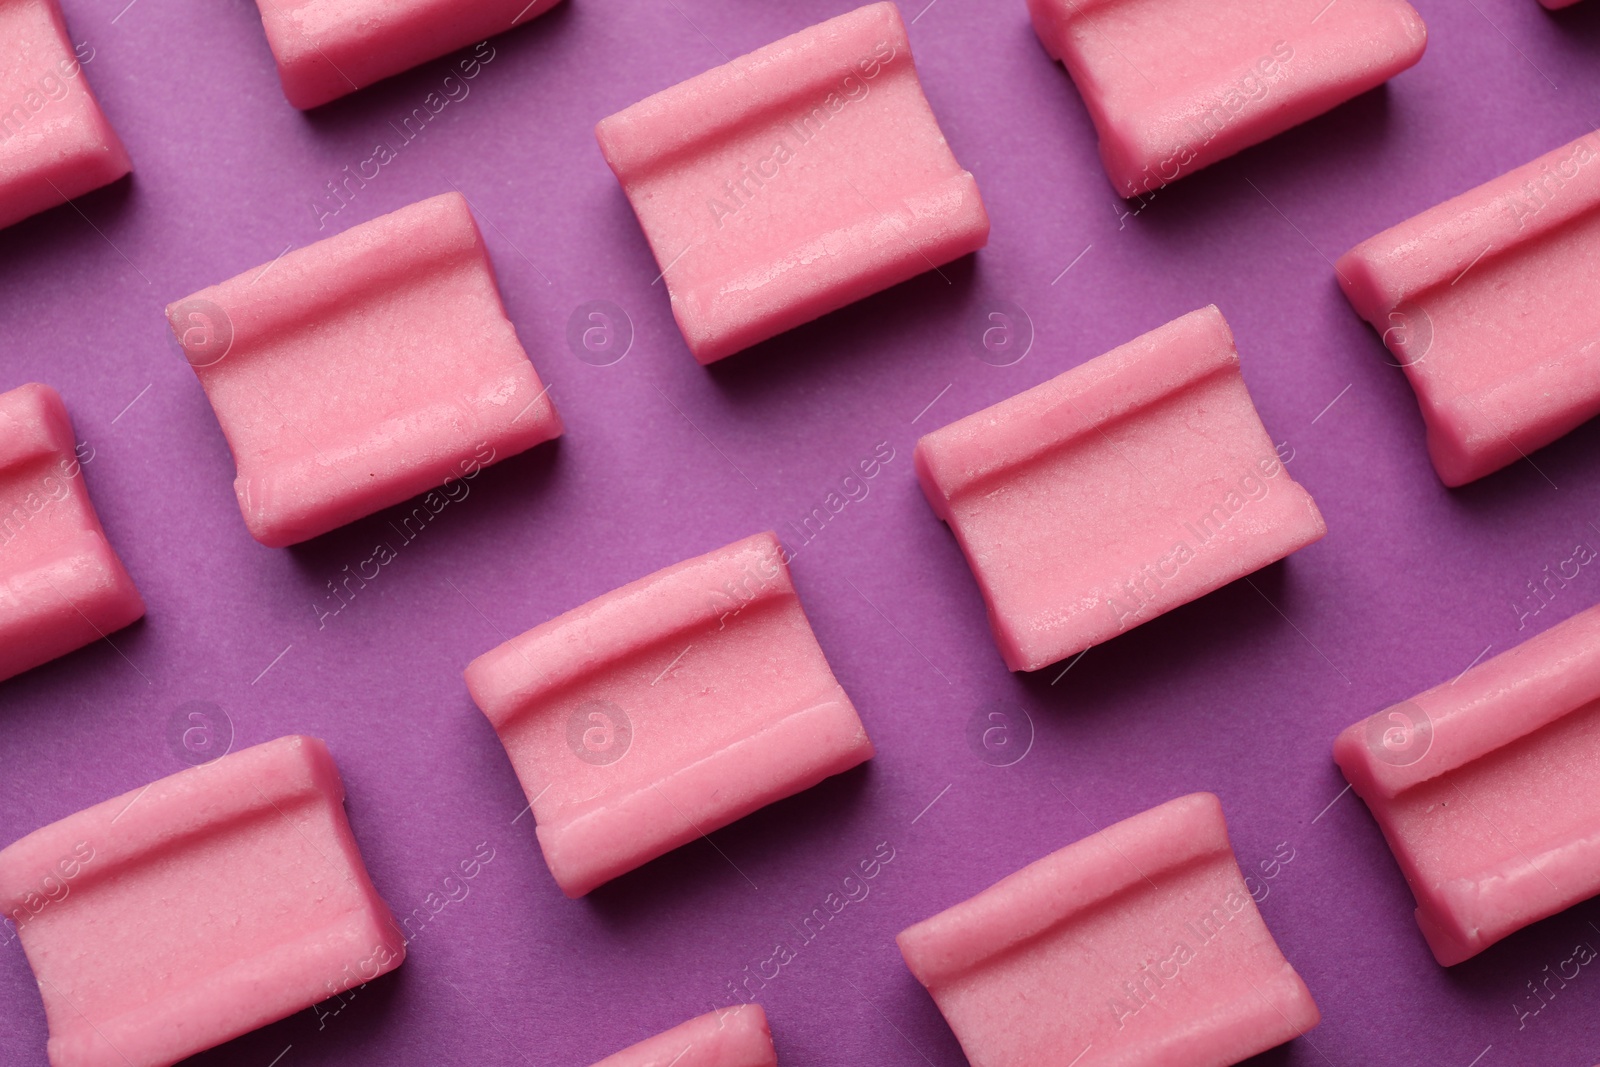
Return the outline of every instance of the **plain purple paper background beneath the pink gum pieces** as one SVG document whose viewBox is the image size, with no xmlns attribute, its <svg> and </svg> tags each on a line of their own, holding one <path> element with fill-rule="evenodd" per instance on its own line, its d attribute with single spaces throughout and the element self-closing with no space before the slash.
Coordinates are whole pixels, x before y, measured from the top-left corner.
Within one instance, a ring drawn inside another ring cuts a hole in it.
<svg viewBox="0 0 1600 1067">
<path fill-rule="evenodd" d="M 134 176 L 0 232 L 0 389 L 61 390 L 149 617 L 115 648 L 0 685 L 0 841 L 181 769 L 174 717 L 203 702 L 226 712 L 235 747 L 325 737 L 373 878 L 398 915 L 427 917 L 413 920 L 405 966 L 342 1008 L 195 1062 L 581 1067 L 728 1003 L 728 984 L 786 944 L 794 958 L 758 993 L 786 1064 L 957 1065 L 894 933 L 1200 789 L 1221 795 L 1262 915 L 1325 1016 L 1259 1062 L 1600 1059 L 1600 973 L 1552 984 L 1549 1001 L 1526 989 L 1574 944 L 1600 945 L 1600 905 L 1438 968 L 1330 757 L 1346 725 L 1600 600 L 1600 573 L 1584 568 L 1539 611 L 1520 601 L 1578 542 L 1600 545 L 1600 427 L 1539 451 L 1536 467 L 1446 491 L 1411 390 L 1328 262 L 1592 128 L 1600 0 L 1560 14 L 1534 0 L 1418 0 L 1430 37 L 1418 67 L 1128 218 L 1019 0 L 906 10 L 928 98 L 992 214 L 989 248 L 947 267 L 947 282 L 925 275 L 710 371 L 651 283 L 656 264 L 592 125 L 848 3 L 570 0 L 496 38 L 470 93 L 318 230 L 310 205 L 325 182 L 395 144 L 390 123 L 442 91 L 450 62 L 302 115 L 283 101 L 248 0 L 123 2 L 70 0 L 67 21 L 93 48 L 86 74 Z M 1310 18 L 1325 0 L 1283 2 Z M 253 542 L 227 446 L 160 309 L 451 187 L 478 213 L 568 434 L 474 480 L 318 627 L 326 584 L 392 537 L 387 517 L 291 550 Z M 635 331 L 611 366 L 566 344 L 573 310 L 597 299 L 626 309 Z M 1010 675 L 917 490 L 917 435 L 1208 302 L 1229 317 L 1326 539 L 1254 589 L 1235 582 L 1091 649 L 1054 683 L 1059 667 Z M 1006 304 L 1035 336 L 1026 358 L 992 366 L 976 338 Z M 800 544 L 790 523 L 878 442 L 894 459 L 866 499 Z M 565 899 L 461 669 L 763 528 L 798 547 L 805 606 L 878 757 L 714 845 Z M 1035 729 L 1013 766 L 970 744 L 973 717 L 992 705 Z M 882 841 L 894 859 L 867 897 L 800 945 L 800 918 Z M 493 861 L 432 913 L 430 894 L 443 897 L 480 843 Z M 1267 880 L 1258 862 L 1280 843 L 1294 857 Z M 43 1064 L 45 1037 L 10 939 L 0 1062 Z"/>
</svg>

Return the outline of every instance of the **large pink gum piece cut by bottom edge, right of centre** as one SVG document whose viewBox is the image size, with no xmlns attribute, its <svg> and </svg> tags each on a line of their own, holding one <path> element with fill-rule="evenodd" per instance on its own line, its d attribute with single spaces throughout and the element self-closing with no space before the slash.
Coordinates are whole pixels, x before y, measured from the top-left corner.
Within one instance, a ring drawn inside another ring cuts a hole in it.
<svg viewBox="0 0 1600 1067">
<path fill-rule="evenodd" d="M 1322 1019 L 1190 793 L 898 937 L 973 1067 L 1224 1067 Z"/>
</svg>

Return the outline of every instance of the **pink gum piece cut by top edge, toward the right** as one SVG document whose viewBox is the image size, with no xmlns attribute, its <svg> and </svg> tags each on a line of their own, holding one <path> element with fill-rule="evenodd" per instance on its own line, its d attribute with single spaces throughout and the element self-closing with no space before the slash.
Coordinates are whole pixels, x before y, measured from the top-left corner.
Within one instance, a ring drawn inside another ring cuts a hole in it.
<svg viewBox="0 0 1600 1067">
<path fill-rule="evenodd" d="M 1376 88 L 1422 58 L 1405 0 L 1029 0 L 1138 197 Z"/>
</svg>

